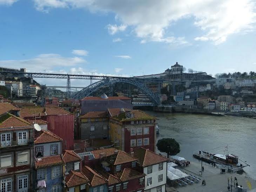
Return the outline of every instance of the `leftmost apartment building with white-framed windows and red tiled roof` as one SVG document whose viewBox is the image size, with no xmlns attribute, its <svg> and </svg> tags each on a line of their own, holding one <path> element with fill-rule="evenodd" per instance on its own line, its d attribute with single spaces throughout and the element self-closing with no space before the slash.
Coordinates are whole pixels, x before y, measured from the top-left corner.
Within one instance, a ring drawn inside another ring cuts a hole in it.
<svg viewBox="0 0 256 192">
<path fill-rule="evenodd" d="M 0 116 L 1 192 L 34 191 L 34 127 L 8 112 Z"/>
</svg>

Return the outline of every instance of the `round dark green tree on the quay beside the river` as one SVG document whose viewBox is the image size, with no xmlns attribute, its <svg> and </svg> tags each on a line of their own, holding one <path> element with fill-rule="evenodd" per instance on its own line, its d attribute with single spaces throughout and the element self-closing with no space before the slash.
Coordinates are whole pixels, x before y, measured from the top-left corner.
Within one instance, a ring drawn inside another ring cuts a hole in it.
<svg viewBox="0 0 256 192">
<path fill-rule="evenodd" d="M 156 146 L 159 151 L 167 153 L 168 158 L 169 155 L 177 155 L 180 152 L 180 144 L 173 138 L 162 138 L 157 141 Z"/>
</svg>

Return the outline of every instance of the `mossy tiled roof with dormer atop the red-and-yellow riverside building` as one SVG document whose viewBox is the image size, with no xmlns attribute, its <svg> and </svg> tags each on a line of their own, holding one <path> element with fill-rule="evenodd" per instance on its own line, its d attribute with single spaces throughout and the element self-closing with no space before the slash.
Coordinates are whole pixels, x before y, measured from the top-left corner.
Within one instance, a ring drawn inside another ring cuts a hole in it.
<svg viewBox="0 0 256 192">
<path fill-rule="evenodd" d="M 123 112 L 122 114 L 119 114 L 118 116 L 114 116 L 112 118 L 116 119 L 116 120 L 118 120 L 120 122 L 157 119 L 156 117 L 148 115 L 147 113 L 145 113 L 145 112 L 143 112 L 141 110 L 131 110 L 131 112 L 134 113 L 134 117 L 133 118 L 126 118 L 125 117 L 125 112 Z"/>
</svg>

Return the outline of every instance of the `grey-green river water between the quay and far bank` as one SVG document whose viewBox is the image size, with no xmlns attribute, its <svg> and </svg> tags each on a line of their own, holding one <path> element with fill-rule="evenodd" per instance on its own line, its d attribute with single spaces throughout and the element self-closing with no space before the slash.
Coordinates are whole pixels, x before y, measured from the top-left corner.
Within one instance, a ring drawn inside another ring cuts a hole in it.
<svg viewBox="0 0 256 192">
<path fill-rule="evenodd" d="M 183 113 L 146 111 L 157 117 L 160 134 L 157 140 L 174 138 L 181 148 L 178 156 L 190 161 L 193 152 L 204 150 L 212 153 L 228 152 L 246 160 L 244 171 L 256 180 L 256 119 L 246 117 L 225 117 Z"/>
</svg>

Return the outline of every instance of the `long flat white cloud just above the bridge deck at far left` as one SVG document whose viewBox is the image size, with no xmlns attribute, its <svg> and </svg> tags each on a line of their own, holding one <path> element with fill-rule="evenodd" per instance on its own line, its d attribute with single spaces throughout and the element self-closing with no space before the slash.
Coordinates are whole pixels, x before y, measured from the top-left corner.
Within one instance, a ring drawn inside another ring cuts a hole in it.
<svg viewBox="0 0 256 192">
<path fill-rule="evenodd" d="M 0 66 L 12 68 L 26 68 L 29 71 L 52 71 L 55 67 L 72 67 L 86 63 L 81 57 L 63 57 L 58 54 L 41 54 L 26 60 L 0 60 Z"/>
</svg>

